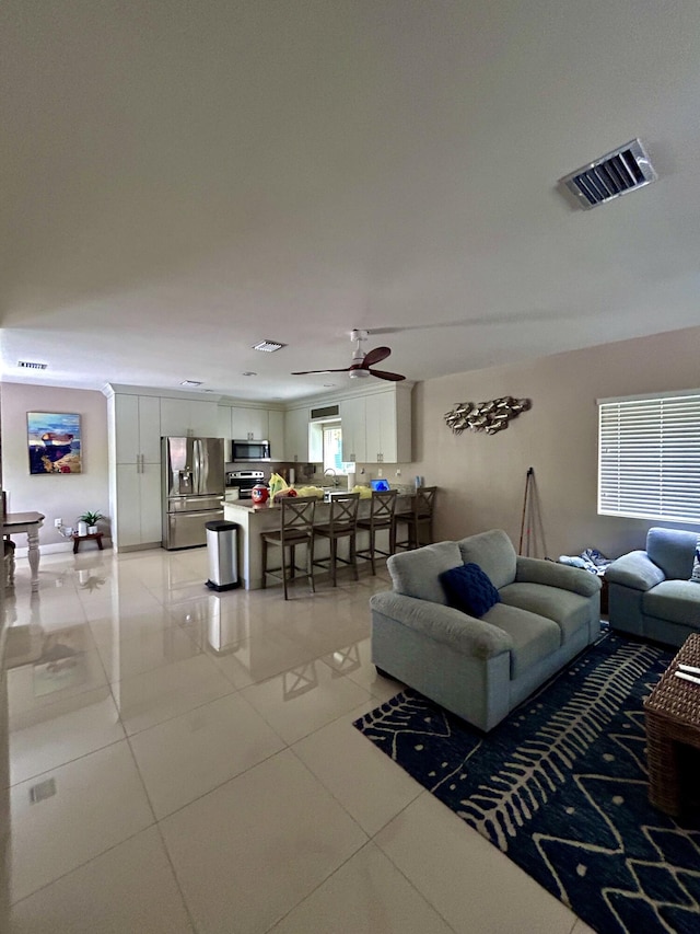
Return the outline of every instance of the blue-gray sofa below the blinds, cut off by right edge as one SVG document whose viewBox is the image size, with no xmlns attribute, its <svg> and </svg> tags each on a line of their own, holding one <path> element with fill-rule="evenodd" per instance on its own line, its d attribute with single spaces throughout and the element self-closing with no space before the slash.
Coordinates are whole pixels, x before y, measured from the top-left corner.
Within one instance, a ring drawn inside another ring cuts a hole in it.
<svg viewBox="0 0 700 934">
<path fill-rule="evenodd" d="M 700 584 L 690 580 L 697 541 L 695 532 L 650 529 L 646 551 L 607 567 L 612 629 L 674 646 L 700 632 Z"/>
</svg>

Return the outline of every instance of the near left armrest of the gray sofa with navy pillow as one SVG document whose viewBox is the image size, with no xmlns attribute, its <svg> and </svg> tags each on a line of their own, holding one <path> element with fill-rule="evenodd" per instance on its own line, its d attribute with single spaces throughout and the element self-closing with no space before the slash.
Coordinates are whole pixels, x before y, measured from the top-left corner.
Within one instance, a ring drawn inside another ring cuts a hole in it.
<svg viewBox="0 0 700 934">
<path fill-rule="evenodd" d="M 513 647 L 510 635 L 503 630 L 441 603 L 387 590 L 375 593 L 370 599 L 370 608 L 474 658 L 492 658 Z"/>
</svg>

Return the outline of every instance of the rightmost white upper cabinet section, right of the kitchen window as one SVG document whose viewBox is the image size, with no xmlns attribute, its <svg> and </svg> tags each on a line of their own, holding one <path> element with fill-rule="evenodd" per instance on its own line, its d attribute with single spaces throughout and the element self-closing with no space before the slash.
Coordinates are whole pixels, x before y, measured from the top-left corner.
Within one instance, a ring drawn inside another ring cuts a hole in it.
<svg viewBox="0 0 700 934">
<path fill-rule="evenodd" d="M 410 389 L 389 387 L 365 396 L 366 462 L 411 461 Z M 345 436 L 345 428 L 343 428 Z"/>
</svg>

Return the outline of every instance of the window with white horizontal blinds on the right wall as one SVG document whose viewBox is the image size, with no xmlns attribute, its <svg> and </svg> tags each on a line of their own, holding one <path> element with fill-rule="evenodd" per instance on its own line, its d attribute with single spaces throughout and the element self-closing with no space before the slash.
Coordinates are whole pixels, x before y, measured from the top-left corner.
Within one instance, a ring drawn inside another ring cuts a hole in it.
<svg viewBox="0 0 700 934">
<path fill-rule="evenodd" d="M 700 391 L 598 405 L 598 514 L 700 523 Z"/>
</svg>

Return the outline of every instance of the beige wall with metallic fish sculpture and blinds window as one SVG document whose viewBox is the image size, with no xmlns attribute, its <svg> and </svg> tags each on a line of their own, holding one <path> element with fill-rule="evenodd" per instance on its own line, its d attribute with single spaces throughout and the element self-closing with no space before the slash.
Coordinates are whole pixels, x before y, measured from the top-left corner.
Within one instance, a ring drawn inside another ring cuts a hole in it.
<svg viewBox="0 0 700 934">
<path fill-rule="evenodd" d="M 401 465 L 401 476 L 419 473 L 441 488 L 441 539 L 501 528 L 517 547 L 533 466 L 546 545 L 538 534 L 538 556 L 556 560 L 595 546 L 612 557 L 643 547 L 648 528 L 658 523 L 596 514 L 596 400 L 697 389 L 699 361 L 697 327 L 429 380 L 413 390 L 417 460 Z M 443 415 L 455 403 L 502 395 L 528 397 L 532 410 L 493 436 L 455 436 L 446 427 Z"/>
</svg>

